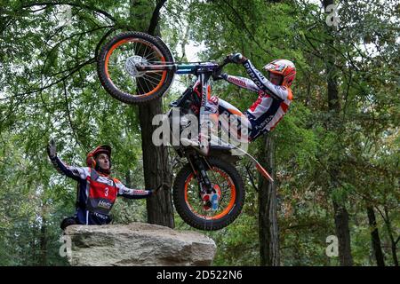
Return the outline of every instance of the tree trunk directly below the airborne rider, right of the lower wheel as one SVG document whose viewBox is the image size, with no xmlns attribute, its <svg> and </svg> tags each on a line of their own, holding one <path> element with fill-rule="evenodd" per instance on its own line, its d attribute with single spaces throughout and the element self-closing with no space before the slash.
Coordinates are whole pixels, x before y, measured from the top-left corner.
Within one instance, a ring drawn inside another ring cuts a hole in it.
<svg viewBox="0 0 400 284">
<path fill-rule="evenodd" d="M 265 138 L 265 149 L 261 152 L 261 165 L 275 176 L 274 140 L 270 134 Z M 279 232 L 277 223 L 276 184 L 260 175 L 259 186 L 259 237 L 260 265 L 279 266 Z"/>
</svg>

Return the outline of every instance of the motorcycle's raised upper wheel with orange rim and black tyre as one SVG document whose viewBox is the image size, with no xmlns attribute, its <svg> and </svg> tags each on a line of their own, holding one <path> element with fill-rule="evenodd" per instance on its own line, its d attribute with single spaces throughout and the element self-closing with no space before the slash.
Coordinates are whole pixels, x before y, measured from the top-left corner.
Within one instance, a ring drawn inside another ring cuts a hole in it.
<svg viewBox="0 0 400 284">
<path fill-rule="evenodd" d="M 115 99 L 126 104 L 142 104 L 168 91 L 174 71 L 138 71 L 142 66 L 173 64 L 173 57 L 161 39 L 140 32 L 126 32 L 112 38 L 97 58 L 100 83 Z"/>
</svg>

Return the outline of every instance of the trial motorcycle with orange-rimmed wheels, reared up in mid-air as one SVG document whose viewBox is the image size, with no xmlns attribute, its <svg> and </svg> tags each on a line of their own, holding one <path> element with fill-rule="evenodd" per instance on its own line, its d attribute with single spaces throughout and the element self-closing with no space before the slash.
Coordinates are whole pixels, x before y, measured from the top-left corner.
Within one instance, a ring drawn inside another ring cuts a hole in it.
<svg viewBox="0 0 400 284">
<path fill-rule="evenodd" d="M 159 37 L 140 32 L 115 36 L 102 46 L 97 59 L 100 83 L 113 98 L 126 104 L 146 104 L 161 98 L 171 87 L 174 75 L 196 76 L 195 83 L 170 104 L 172 108 L 166 115 L 172 128 L 176 124 L 172 114 L 179 114 L 179 131 L 172 137 L 178 141 L 188 127 L 181 122 L 188 115 L 198 119 L 205 100 L 211 98 L 211 80 L 218 78 L 228 63 L 228 60 L 175 62 L 172 52 Z M 245 118 L 223 99 L 219 99 L 219 112 L 228 118 L 230 115 L 239 120 Z M 261 175 L 273 181 L 267 170 L 241 147 L 218 142 L 211 143 L 207 155 L 196 147 L 172 143 L 180 158 L 187 160 L 173 182 L 173 204 L 188 225 L 207 231 L 226 227 L 243 209 L 244 181 L 234 166 L 241 156 L 249 157 Z"/>
</svg>

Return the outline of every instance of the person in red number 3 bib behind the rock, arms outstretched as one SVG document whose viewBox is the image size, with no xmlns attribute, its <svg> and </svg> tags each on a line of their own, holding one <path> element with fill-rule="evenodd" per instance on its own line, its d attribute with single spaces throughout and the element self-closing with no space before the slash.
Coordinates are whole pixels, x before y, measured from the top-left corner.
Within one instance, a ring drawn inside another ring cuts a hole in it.
<svg viewBox="0 0 400 284">
<path fill-rule="evenodd" d="M 53 166 L 63 175 L 78 182 L 76 193 L 76 212 L 74 217 L 65 218 L 61 229 L 68 225 L 106 225 L 111 222 L 109 212 L 116 196 L 140 199 L 154 195 L 156 190 L 132 189 L 123 185 L 115 177 L 110 177 L 111 147 L 102 145 L 92 150 L 86 157 L 87 167 L 69 166 L 62 162 L 56 153 L 55 141 L 47 146 L 47 153 Z"/>
</svg>

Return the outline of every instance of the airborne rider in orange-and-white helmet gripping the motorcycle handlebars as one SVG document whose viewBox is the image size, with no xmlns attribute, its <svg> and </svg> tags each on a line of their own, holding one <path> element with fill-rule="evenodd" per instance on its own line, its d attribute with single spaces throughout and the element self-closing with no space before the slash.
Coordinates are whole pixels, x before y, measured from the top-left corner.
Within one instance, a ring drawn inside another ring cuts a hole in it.
<svg viewBox="0 0 400 284">
<path fill-rule="evenodd" d="M 263 70 L 266 75 L 257 70 L 249 59 L 246 59 L 241 53 L 228 55 L 225 62 L 242 64 L 250 76 L 251 80 L 244 77 L 221 74 L 214 77 L 214 80 L 220 78 L 233 83 L 238 87 L 255 91 L 259 94 L 258 99 L 244 113 L 248 120 L 248 139 L 253 141 L 260 135 L 273 130 L 276 124 L 283 118 L 292 102 L 292 82 L 296 76 L 296 67 L 292 61 L 287 59 L 276 59 L 268 63 Z M 204 121 L 211 122 L 211 130 L 215 132 L 215 123 L 218 123 L 218 98 L 211 97 L 207 99 L 203 113 L 201 112 L 200 121 L 203 126 Z M 210 124 L 208 124 L 210 125 Z M 206 129 L 206 127 L 204 128 Z M 209 132 L 205 132 L 209 133 Z M 185 143 L 196 146 L 201 153 L 209 152 L 209 136 L 199 135 L 198 142 L 185 139 Z"/>
</svg>

